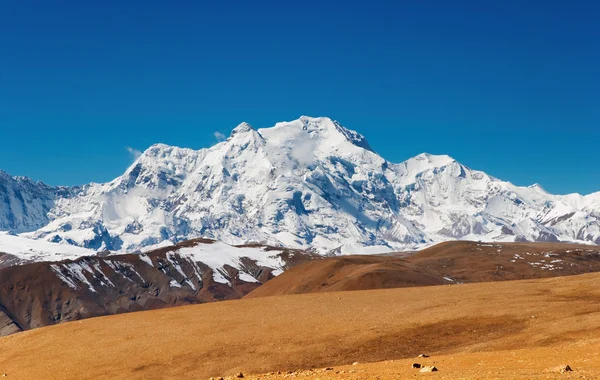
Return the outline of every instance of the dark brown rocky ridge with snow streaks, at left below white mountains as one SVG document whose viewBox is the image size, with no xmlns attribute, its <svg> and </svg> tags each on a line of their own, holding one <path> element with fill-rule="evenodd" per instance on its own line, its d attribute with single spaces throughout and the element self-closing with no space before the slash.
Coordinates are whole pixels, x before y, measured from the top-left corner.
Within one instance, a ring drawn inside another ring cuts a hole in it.
<svg viewBox="0 0 600 380">
<path fill-rule="evenodd" d="M 130 311 L 241 298 L 317 256 L 197 239 L 144 254 L 0 269 L 0 336 Z"/>
</svg>

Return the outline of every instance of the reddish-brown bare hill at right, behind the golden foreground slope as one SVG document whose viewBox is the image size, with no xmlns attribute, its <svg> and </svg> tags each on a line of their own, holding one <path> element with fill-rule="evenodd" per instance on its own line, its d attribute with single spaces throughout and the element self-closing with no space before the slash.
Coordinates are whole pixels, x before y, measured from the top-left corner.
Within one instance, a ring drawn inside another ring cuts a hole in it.
<svg viewBox="0 0 600 380">
<path fill-rule="evenodd" d="M 600 248 L 454 241 L 414 255 L 341 256 L 298 265 L 246 297 L 521 280 L 600 271 Z"/>
</svg>

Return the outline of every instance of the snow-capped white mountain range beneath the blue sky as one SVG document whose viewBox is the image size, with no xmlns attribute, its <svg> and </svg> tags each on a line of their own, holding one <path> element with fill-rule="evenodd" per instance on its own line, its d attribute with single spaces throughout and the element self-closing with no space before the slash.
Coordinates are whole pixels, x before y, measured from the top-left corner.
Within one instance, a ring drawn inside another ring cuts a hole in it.
<svg viewBox="0 0 600 380">
<path fill-rule="evenodd" d="M 0 194 L 1 229 L 93 250 L 196 237 L 339 253 L 449 239 L 600 244 L 600 193 L 518 187 L 448 156 L 390 163 L 329 118 L 242 123 L 197 151 L 153 145 L 106 184 L 51 188 L 3 175 Z"/>
</svg>

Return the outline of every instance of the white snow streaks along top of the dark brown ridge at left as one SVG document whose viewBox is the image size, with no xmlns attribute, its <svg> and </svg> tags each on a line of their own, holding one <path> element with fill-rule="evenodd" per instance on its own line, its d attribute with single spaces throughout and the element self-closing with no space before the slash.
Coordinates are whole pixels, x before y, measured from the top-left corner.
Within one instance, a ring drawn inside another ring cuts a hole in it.
<svg viewBox="0 0 600 380">
<path fill-rule="evenodd" d="M 137 260 L 128 256 L 73 259 L 73 262 L 54 263 L 51 269 L 69 287 L 89 288 L 98 293 L 99 289 L 90 281 L 107 279 L 109 273 L 94 263 L 103 262 L 111 272 L 127 278 L 137 276 L 141 281 L 145 279 L 139 274 L 140 265 L 149 265 L 166 275 L 171 287 L 188 287 L 188 290 L 198 291 L 202 288 L 203 281 L 208 279 L 230 288 L 235 288 L 235 283 L 239 281 L 261 283 L 281 274 L 289 266 L 310 260 L 314 255 L 285 248 L 259 245 L 236 247 L 217 241 L 194 239 L 180 245 L 140 253 Z M 99 286 L 114 287 L 114 284 L 106 280 L 99 282 Z"/>
</svg>

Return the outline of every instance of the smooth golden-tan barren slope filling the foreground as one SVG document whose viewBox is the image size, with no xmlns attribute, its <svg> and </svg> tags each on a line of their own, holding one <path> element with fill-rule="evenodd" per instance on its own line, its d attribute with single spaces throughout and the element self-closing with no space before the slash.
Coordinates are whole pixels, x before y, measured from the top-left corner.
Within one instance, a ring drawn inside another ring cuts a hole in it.
<svg viewBox="0 0 600 380">
<path fill-rule="evenodd" d="M 435 362 L 440 378 L 545 377 L 543 368 L 562 362 L 594 378 L 598 338 L 600 275 L 585 274 L 242 299 L 87 319 L 0 338 L 0 372 L 15 379 L 206 379 L 426 352 L 432 357 L 424 364 Z M 504 351 L 463 355 L 496 350 Z M 414 374 L 407 363 L 327 376 L 404 378 Z"/>
</svg>

